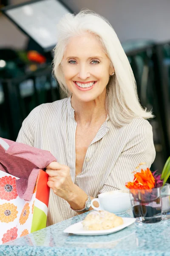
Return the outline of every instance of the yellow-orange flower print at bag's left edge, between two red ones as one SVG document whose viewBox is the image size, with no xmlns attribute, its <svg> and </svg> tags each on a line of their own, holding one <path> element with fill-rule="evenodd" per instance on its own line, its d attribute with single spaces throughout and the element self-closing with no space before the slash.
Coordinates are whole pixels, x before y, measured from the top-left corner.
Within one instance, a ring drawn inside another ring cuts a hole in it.
<svg viewBox="0 0 170 256">
<path fill-rule="evenodd" d="M 0 205 L 0 221 L 1 222 L 11 222 L 17 218 L 17 206 L 14 204 L 5 203 Z"/>
</svg>

